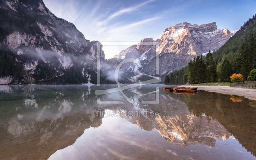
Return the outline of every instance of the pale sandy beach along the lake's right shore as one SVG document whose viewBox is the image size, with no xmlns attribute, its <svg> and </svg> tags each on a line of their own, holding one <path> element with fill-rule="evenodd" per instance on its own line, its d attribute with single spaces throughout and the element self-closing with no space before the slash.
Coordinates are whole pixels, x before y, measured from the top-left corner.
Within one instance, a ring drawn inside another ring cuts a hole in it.
<svg viewBox="0 0 256 160">
<path fill-rule="evenodd" d="M 192 87 L 192 86 L 180 86 L 180 87 Z M 228 86 L 193 86 L 198 87 L 197 90 L 204 90 L 208 92 L 223 93 L 227 95 L 240 95 L 246 98 L 256 101 L 256 89 L 248 88 L 235 88 Z"/>
</svg>

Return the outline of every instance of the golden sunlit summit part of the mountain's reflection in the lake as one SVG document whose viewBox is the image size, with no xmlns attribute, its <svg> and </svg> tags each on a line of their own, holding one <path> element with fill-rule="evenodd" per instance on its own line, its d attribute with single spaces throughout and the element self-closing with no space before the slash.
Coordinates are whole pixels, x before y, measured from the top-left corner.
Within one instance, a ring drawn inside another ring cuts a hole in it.
<svg viewBox="0 0 256 160">
<path fill-rule="evenodd" d="M 155 128 L 162 137 L 180 146 L 198 143 L 214 147 L 216 140 L 226 140 L 232 135 L 217 120 L 208 123 L 206 117 L 188 118 L 187 122 L 178 118 L 159 117 L 156 122 Z"/>
</svg>

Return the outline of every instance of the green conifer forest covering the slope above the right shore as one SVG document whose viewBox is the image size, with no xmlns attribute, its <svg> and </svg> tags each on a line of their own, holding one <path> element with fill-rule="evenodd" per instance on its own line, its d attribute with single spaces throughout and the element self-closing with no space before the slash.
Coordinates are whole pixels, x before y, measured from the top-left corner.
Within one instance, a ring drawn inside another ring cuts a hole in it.
<svg viewBox="0 0 256 160">
<path fill-rule="evenodd" d="M 231 82 L 233 73 L 242 74 L 249 80 L 256 65 L 256 14 L 219 50 L 194 57 L 186 67 L 166 75 L 164 84 Z"/>
</svg>

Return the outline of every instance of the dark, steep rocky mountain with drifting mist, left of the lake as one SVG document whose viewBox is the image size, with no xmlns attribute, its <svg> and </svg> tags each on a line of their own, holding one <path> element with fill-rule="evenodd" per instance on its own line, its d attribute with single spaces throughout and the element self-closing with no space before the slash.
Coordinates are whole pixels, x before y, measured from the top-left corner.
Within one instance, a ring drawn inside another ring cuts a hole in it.
<svg viewBox="0 0 256 160">
<path fill-rule="evenodd" d="M 56 17 L 42 0 L 0 4 L 1 84 L 88 82 L 89 74 L 97 70 L 98 41 L 86 40 L 74 24 Z M 100 52 L 104 60 L 102 45 Z"/>
</svg>

